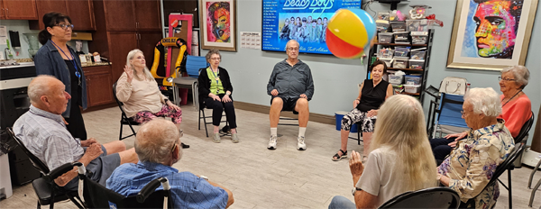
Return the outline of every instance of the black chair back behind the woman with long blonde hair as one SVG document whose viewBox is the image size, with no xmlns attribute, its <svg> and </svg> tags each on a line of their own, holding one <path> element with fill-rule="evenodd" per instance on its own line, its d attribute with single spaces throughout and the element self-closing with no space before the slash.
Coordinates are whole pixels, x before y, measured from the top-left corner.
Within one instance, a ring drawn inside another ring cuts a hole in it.
<svg viewBox="0 0 541 209">
<path fill-rule="evenodd" d="M 456 209 L 459 205 L 460 197 L 453 189 L 433 187 L 402 193 L 378 209 Z"/>
</svg>

